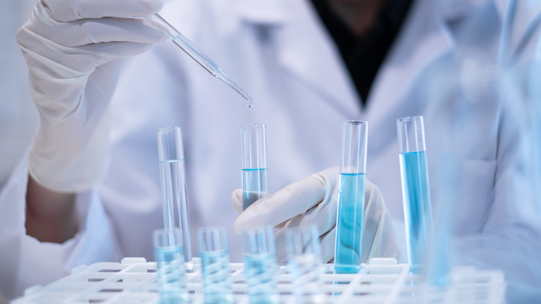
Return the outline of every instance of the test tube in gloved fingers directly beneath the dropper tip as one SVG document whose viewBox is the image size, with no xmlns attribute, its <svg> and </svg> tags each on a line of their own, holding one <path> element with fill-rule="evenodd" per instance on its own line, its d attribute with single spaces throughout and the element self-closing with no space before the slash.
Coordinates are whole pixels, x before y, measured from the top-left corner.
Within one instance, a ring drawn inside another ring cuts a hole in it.
<svg viewBox="0 0 541 304">
<path fill-rule="evenodd" d="M 242 207 L 268 195 L 266 126 L 248 124 L 241 126 L 242 138 Z"/>
</svg>

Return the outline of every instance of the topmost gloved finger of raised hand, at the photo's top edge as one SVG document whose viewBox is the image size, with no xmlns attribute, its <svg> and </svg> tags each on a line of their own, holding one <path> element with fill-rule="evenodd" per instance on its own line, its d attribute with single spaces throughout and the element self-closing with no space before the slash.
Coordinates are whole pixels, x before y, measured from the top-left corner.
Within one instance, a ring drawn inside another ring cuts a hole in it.
<svg viewBox="0 0 541 304">
<path fill-rule="evenodd" d="M 102 17 L 143 17 L 162 9 L 163 0 L 41 0 L 59 22 Z"/>
</svg>

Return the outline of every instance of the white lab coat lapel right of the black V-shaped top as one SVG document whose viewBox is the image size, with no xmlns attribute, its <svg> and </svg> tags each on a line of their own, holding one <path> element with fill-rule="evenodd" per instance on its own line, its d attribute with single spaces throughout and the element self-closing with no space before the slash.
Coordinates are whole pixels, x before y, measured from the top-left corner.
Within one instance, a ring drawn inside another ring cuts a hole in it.
<svg viewBox="0 0 541 304">
<path fill-rule="evenodd" d="M 413 110 L 419 105 L 404 104 L 406 96 L 422 71 L 453 47 L 452 35 L 445 24 L 438 1 L 417 0 L 410 10 L 393 49 L 388 53 L 372 85 L 367 113 L 372 121 L 388 121 L 400 117 L 388 117 L 391 113 L 415 115 Z M 392 90 L 389 83 L 393 83 Z"/>
</svg>

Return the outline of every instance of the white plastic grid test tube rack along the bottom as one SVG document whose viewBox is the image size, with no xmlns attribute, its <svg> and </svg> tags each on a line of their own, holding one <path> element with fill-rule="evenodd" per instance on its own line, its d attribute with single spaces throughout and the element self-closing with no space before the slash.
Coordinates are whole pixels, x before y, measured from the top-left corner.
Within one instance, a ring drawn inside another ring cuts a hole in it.
<svg viewBox="0 0 541 304">
<path fill-rule="evenodd" d="M 372 259 L 355 274 L 336 274 L 333 264 L 323 264 L 323 303 L 504 303 L 506 283 L 501 271 L 454 268 L 448 284 L 437 287 L 411 274 L 408 264 L 394 259 Z M 243 263 L 231 263 L 234 303 L 248 304 Z M 198 257 L 186 263 L 190 303 L 204 303 L 201 264 Z M 49 303 L 160 303 L 156 263 L 142 257 L 119 262 L 80 265 L 71 275 L 46 286 L 27 289 L 12 304 Z M 293 296 L 292 276 L 285 265 L 277 270 L 280 303 L 298 303 Z"/>
</svg>

